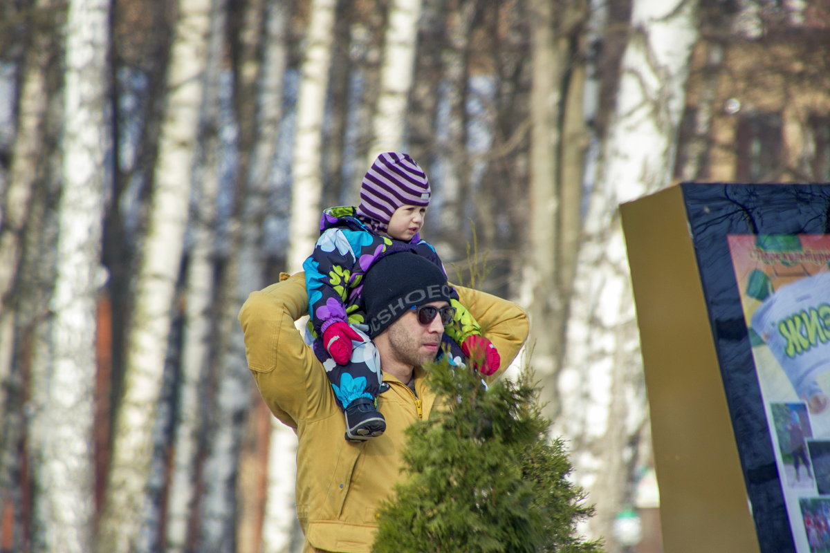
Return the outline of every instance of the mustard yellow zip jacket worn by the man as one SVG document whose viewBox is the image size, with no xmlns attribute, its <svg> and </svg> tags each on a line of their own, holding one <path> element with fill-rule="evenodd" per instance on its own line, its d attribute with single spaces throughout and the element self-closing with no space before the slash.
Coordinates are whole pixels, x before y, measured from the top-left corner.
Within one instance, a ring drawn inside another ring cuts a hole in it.
<svg viewBox="0 0 830 553">
<path fill-rule="evenodd" d="M 525 312 L 505 299 L 457 287 L 461 303 L 481 325 L 501 356 L 500 371 L 525 342 Z M 378 400 L 386 432 L 362 443 L 344 439 L 343 412 L 334 401 L 325 369 L 297 332 L 307 314 L 304 274 L 251 293 L 239 313 L 248 367 L 271 412 L 298 438 L 296 508 L 305 533 L 304 551 L 368 553 L 377 529 L 375 512 L 402 478 L 403 430 L 429 417 L 435 396 L 415 371 L 413 394 L 393 376 Z"/>
</svg>

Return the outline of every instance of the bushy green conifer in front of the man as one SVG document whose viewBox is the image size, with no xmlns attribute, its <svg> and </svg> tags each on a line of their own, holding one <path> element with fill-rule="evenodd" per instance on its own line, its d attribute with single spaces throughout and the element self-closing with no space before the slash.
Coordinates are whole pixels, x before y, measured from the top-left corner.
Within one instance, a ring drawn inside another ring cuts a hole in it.
<svg viewBox="0 0 830 553">
<path fill-rule="evenodd" d="M 546 438 L 529 371 L 485 390 L 445 361 L 428 382 L 438 413 L 408 429 L 407 482 L 381 506 L 374 553 L 600 551 L 575 534 L 593 508 L 566 479 L 561 441 Z"/>
</svg>

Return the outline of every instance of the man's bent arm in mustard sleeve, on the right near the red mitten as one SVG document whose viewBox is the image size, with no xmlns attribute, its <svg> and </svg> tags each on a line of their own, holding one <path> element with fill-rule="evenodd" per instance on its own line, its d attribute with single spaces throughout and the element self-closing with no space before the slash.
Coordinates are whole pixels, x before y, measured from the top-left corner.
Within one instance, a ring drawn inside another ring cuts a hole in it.
<svg viewBox="0 0 830 553">
<path fill-rule="evenodd" d="M 518 355 L 529 330 L 527 313 L 515 303 L 490 293 L 456 286 L 461 303 L 476 318 L 481 333 L 493 342 L 501 356 L 499 371 L 485 380 L 495 380 Z"/>
</svg>

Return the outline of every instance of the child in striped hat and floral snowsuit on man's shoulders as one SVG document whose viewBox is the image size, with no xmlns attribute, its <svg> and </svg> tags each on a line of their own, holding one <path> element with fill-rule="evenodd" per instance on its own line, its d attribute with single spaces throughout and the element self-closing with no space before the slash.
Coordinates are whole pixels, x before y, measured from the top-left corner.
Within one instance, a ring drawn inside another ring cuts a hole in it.
<svg viewBox="0 0 830 553">
<path fill-rule="evenodd" d="M 408 154 L 380 154 L 364 175 L 359 206 L 323 212 L 320 239 L 303 264 L 309 341 L 344 410 L 349 441 L 373 438 L 386 429 L 377 398 L 388 385 L 366 324 L 361 281 L 375 261 L 400 251 L 422 255 L 443 270 L 435 249 L 420 235 L 429 199 L 427 175 Z M 450 304 L 455 313 L 445 323 L 442 352 L 449 352 L 457 365 L 472 356 L 476 369 L 493 374 L 500 366 L 496 347 L 481 336 L 455 290 Z"/>
</svg>

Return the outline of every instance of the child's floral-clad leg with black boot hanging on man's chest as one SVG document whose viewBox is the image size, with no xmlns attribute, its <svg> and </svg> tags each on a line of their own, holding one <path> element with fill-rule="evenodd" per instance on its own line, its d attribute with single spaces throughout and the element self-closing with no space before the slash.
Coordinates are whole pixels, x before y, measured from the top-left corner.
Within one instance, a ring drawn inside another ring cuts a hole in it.
<svg viewBox="0 0 830 553">
<path fill-rule="evenodd" d="M 352 342 L 352 357 L 348 364 L 338 365 L 329 357 L 322 361 L 334 390 L 334 398 L 344 410 L 346 439 L 362 441 L 379 436 L 386 429 L 386 421 L 377 408 L 383 377 L 380 356 L 374 343 L 358 328 L 354 328 L 354 332 L 360 335 L 362 341 Z"/>
</svg>

